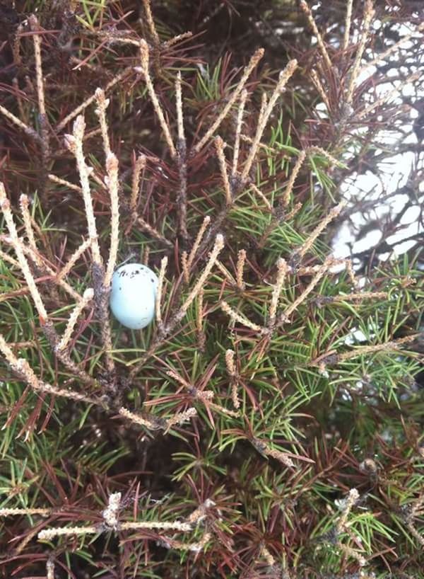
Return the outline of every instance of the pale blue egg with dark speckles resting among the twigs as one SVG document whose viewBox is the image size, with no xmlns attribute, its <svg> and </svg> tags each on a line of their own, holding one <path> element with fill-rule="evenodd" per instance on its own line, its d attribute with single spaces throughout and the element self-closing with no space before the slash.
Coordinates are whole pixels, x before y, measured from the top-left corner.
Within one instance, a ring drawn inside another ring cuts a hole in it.
<svg viewBox="0 0 424 579">
<path fill-rule="evenodd" d="M 146 265 L 126 263 L 112 276 L 110 309 L 122 326 L 146 328 L 155 315 L 158 276 Z"/>
</svg>

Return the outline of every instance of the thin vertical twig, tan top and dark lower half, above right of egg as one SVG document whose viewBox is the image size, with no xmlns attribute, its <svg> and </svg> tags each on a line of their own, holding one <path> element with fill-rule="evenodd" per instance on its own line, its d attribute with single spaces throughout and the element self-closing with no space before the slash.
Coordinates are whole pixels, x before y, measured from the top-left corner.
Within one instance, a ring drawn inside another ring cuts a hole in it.
<svg viewBox="0 0 424 579">
<path fill-rule="evenodd" d="M 187 231 L 187 144 L 184 134 L 184 116 L 182 114 L 182 93 L 181 93 L 181 72 L 178 71 L 175 82 L 175 99 L 177 103 L 177 164 L 179 172 L 179 193 L 178 193 L 178 216 L 179 233 L 187 243 L 189 233 Z"/>
</svg>

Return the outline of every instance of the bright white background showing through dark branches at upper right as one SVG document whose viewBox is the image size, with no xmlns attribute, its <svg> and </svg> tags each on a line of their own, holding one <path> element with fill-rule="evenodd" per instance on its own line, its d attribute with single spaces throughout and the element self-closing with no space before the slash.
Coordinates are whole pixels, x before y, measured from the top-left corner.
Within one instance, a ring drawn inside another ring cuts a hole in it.
<svg viewBox="0 0 424 579">
<path fill-rule="evenodd" d="M 380 21 L 375 21 L 373 27 L 378 30 L 382 23 Z M 408 35 L 411 33 L 411 26 L 408 24 L 399 24 L 396 27 L 396 31 L 400 36 Z M 423 38 L 423 35 L 417 33 L 416 38 Z M 404 50 L 411 49 L 413 46 L 413 41 L 408 40 L 401 45 L 401 53 Z M 372 52 L 368 49 L 368 58 L 372 58 Z M 399 62 L 399 54 L 392 54 L 388 57 L 388 61 L 393 64 L 393 67 L 389 69 L 389 78 L 392 77 L 394 80 L 384 82 L 382 84 L 377 84 L 375 88 L 371 89 L 370 93 L 365 95 L 364 101 L 366 103 L 373 103 L 377 98 L 382 98 L 385 95 L 391 93 L 389 104 L 400 105 L 404 102 L 406 97 L 423 98 L 424 97 L 424 82 L 421 84 L 422 88 L 416 89 L 412 83 L 407 83 L 399 79 L 399 76 L 405 76 L 407 74 L 405 67 L 399 67 L 397 64 Z M 381 61 L 383 63 L 383 61 Z M 366 67 L 366 63 L 365 67 Z M 377 67 L 374 65 L 371 67 L 363 68 L 358 76 L 357 84 L 362 84 L 364 81 L 370 78 L 370 76 L 377 73 Z M 411 67 L 409 70 L 416 70 L 417 67 Z M 392 93 L 394 88 L 397 88 L 396 93 Z M 413 102 L 413 101 L 412 101 Z M 324 105 L 320 103 L 319 106 L 319 116 L 323 117 L 325 114 Z M 393 149 L 393 156 L 389 156 L 384 161 L 375 163 L 375 166 L 371 168 L 364 168 L 363 173 L 355 173 L 348 176 L 346 180 L 341 183 L 340 191 L 343 197 L 348 200 L 348 206 L 353 207 L 354 205 L 359 205 L 358 212 L 354 212 L 350 215 L 350 222 L 344 222 L 341 224 L 336 236 L 334 236 L 333 241 L 333 251 L 337 258 L 346 258 L 351 255 L 351 253 L 360 253 L 362 251 L 367 251 L 367 249 L 375 246 L 379 241 L 384 241 L 384 223 L 389 222 L 391 219 L 396 217 L 396 215 L 404 208 L 405 204 L 408 202 L 408 195 L 405 193 L 399 193 L 399 195 L 393 195 L 396 190 L 403 190 L 408 185 L 418 188 L 418 192 L 422 193 L 424 191 L 424 183 L 409 184 L 411 174 L 416 170 L 416 154 L 413 151 L 405 151 L 401 153 L 396 153 L 396 147 L 404 144 L 416 144 L 418 142 L 416 134 L 412 131 L 413 120 L 418 116 L 418 111 L 415 108 L 406 109 L 406 115 L 404 122 L 394 121 L 393 127 L 386 127 L 384 130 L 380 131 L 377 138 L 381 144 L 380 149 L 375 149 L 374 154 L 378 156 L 384 151 Z M 355 133 L 360 137 L 365 135 L 367 132 L 366 127 L 358 127 Z M 405 134 L 407 137 L 403 137 Z M 343 161 L 348 161 L 353 154 L 355 154 L 355 144 L 348 150 L 348 154 L 344 156 Z M 368 161 L 372 164 L 372 156 Z M 364 163 L 366 165 L 366 163 Z M 421 168 L 423 166 L 423 160 L 420 161 Z M 386 198 L 389 197 L 389 198 Z M 367 202 L 375 201 L 375 204 L 369 203 L 370 209 L 367 210 Z M 363 205 L 363 207 L 361 207 Z M 363 210 L 365 207 L 365 210 Z M 387 236 L 387 243 L 393 244 L 397 243 L 393 248 L 393 253 L 395 255 L 400 255 L 407 251 L 408 248 L 413 247 L 416 244 L 416 240 L 405 241 L 405 243 L 398 243 L 401 239 L 406 239 L 413 235 L 423 234 L 424 240 L 424 230 L 419 222 L 420 208 L 416 205 L 408 208 L 403 217 L 401 217 L 399 222 L 399 231 L 395 234 Z M 358 233 L 367 224 L 374 224 L 375 227 L 371 227 L 370 231 L 365 231 L 365 234 L 360 235 L 360 239 L 357 241 L 356 238 Z M 384 253 L 379 256 L 381 259 L 385 259 L 389 256 L 389 253 Z"/>
</svg>

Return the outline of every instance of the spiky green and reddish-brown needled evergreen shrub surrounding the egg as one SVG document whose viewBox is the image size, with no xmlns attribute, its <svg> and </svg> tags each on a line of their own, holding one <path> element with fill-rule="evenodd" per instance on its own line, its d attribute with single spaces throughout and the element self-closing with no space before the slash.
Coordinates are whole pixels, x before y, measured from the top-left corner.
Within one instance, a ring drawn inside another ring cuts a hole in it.
<svg viewBox="0 0 424 579">
<path fill-rule="evenodd" d="M 358 84 L 378 6 L 347 1 L 333 50 L 301 2 L 316 49 L 279 75 L 131 7 L 26 3 L 11 39 L 1 573 L 420 578 L 418 255 L 329 247 L 404 113 Z M 128 258 L 159 274 L 137 332 L 107 308 Z"/>
</svg>

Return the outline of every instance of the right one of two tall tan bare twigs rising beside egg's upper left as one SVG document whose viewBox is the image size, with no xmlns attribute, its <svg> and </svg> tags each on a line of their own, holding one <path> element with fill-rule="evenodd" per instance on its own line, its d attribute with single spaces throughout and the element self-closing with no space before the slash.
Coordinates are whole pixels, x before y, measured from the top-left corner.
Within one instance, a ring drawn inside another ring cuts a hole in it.
<svg viewBox="0 0 424 579">
<path fill-rule="evenodd" d="M 110 287 L 114 267 L 117 263 L 119 246 L 119 196 L 118 196 L 118 159 L 113 153 L 106 157 L 107 189 L 110 195 L 110 250 L 107 259 L 105 288 Z"/>
</svg>

